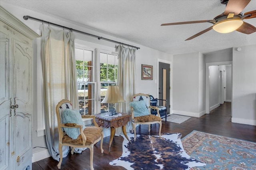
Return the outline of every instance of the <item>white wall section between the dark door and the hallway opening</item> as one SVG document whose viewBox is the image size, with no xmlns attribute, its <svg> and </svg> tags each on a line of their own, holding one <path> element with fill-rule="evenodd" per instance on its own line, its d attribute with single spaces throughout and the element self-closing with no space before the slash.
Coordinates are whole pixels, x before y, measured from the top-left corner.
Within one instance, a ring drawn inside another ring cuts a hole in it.
<svg viewBox="0 0 256 170">
<path fill-rule="evenodd" d="M 204 113 L 204 57 L 200 53 L 173 56 L 173 113 L 200 117 Z M 200 87 L 200 89 L 199 89 Z"/>
</svg>

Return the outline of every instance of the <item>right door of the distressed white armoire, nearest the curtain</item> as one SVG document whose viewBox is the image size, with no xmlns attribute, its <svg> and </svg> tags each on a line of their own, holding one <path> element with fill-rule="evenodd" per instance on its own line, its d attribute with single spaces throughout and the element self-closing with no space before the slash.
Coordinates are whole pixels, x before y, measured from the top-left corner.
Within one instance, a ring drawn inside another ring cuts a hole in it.
<svg viewBox="0 0 256 170">
<path fill-rule="evenodd" d="M 14 150 L 16 162 L 22 164 L 22 155 L 31 147 L 32 100 L 31 64 L 32 48 L 24 43 L 13 41 L 14 65 Z M 32 155 L 30 155 L 32 156 Z M 20 158 L 20 159 L 18 159 Z M 20 160 L 20 161 L 19 161 Z"/>
</svg>

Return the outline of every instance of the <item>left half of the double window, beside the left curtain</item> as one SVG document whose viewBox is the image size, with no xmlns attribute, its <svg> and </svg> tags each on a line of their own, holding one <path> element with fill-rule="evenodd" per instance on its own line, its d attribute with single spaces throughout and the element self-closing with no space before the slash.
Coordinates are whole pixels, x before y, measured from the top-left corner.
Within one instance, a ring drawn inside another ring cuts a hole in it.
<svg viewBox="0 0 256 170">
<path fill-rule="evenodd" d="M 93 115 L 96 110 L 95 51 L 95 49 L 79 45 L 75 48 L 80 114 Z"/>
</svg>

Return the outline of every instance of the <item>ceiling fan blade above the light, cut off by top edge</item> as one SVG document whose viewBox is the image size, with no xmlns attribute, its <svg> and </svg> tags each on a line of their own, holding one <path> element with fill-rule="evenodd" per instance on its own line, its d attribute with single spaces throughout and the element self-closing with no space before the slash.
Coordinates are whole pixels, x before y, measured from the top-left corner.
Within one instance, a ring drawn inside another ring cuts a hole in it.
<svg viewBox="0 0 256 170">
<path fill-rule="evenodd" d="M 238 15 L 250 1 L 251 0 L 229 0 L 224 14 L 228 15 L 230 12 L 234 12 L 235 15 Z"/>
</svg>

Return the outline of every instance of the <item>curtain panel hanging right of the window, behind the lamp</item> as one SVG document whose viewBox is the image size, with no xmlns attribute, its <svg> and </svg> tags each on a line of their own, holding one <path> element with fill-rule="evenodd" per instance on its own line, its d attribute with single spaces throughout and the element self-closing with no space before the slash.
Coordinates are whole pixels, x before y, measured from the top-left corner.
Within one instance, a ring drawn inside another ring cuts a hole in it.
<svg viewBox="0 0 256 170">
<path fill-rule="evenodd" d="M 119 86 L 120 93 L 125 102 L 116 104 L 116 110 L 121 113 L 129 113 L 131 98 L 134 95 L 135 90 L 135 52 L 136 49 L 124 47 L 122 45 L 116 46 L 116 52 L 118 52 L 118 77 L 117 85 Z M 126 125 L 126 132 L 132 130 L 131 121 Z M 122 133 L 122 128 L 116 129 L 116 136 Z"/>
</svg>

